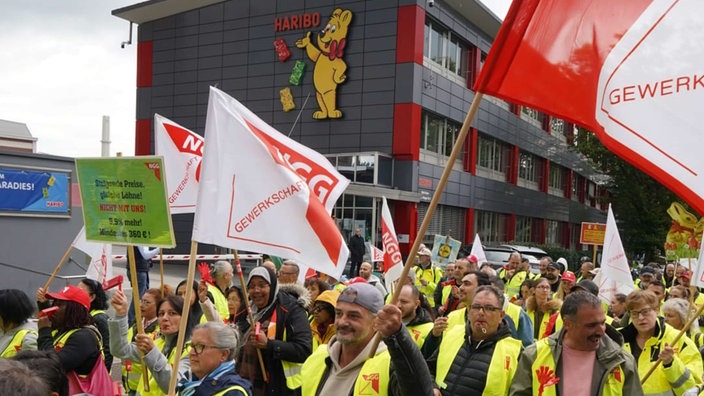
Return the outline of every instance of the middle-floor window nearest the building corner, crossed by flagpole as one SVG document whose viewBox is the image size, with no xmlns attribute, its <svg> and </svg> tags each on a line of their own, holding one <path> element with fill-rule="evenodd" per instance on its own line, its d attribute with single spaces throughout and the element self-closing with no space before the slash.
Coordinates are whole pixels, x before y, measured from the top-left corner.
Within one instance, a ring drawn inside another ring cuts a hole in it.
<svg viewBox="0 0 704 396">
<path fill-rule="evenodd" d="M 452 154 L 452 147 L 460 134 L 462 125 L 446 118 L 423 112 L 420 148 L 425 150 L 422 160 L 429 163 L 444 164 L 446 157 Z M 462 166 L 463 151 L 457 156 L 457 166 Z"/>
</svg>

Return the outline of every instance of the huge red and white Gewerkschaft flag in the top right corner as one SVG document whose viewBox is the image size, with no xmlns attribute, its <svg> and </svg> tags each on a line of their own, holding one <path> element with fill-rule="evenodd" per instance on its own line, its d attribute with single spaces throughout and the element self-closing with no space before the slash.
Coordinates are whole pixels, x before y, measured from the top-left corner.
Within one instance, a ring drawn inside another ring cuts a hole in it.
<svg viewBox="0 0 704 396">
<path fill-rule="evenodd" d="M 477 92 L 582 125 L 704 213 L 704 2 L 514 0 Z"/>
</svg>

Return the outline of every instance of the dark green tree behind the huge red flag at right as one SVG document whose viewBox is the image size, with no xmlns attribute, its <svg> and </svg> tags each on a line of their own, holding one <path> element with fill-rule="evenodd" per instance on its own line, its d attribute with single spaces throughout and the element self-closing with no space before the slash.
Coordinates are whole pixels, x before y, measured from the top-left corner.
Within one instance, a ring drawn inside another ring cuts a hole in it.
<svg viewBox="0 0 704 396">
<path fill-rule="evenodd" d="M 671 219 L 667 208 L 679 198 L 655 179 L 622 160 L 601 144 L 591 132 L 578 128 L 576 149 L 609 178 L 606 188 L 629 257 L 645 254 L 657 261 L 664 254 Z M 686 205 L 685 205 L 686 206 Z"/>
</svg>

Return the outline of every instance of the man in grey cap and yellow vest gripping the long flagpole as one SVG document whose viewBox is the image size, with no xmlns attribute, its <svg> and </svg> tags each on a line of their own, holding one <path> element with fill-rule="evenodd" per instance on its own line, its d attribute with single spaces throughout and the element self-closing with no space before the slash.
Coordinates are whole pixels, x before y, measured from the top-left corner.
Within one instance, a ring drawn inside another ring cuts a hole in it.
<svg viewBox="0 0 704 396">
<path fill-rule="evenodd" d="M 374 286 L 355 283 L 342 291 L 335 326 L 330 342 L 303 364 L 303 395 L 433 394 L 428 366 L 401 322 L 401 310 L 384 305 Z M 383 341 L 370 358 L 375 329 Z"/>
</svg>

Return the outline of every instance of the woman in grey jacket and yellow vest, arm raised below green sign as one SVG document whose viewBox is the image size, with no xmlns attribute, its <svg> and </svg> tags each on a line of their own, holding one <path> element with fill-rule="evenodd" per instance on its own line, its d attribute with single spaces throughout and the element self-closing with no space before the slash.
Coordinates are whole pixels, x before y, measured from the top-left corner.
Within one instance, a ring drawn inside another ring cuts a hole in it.
<svg viewBox="0 0 704 396">
<path fill-rule="evenodd" d="M 129 359 L 133 362 L 139 361 L 140 356 L 144 357 L 142 370 L 149 370 L 149 391 L 146 390 L 144 378 L 141 377 L 137 384 L 136 393 L 138 395 L 161 396 L 166 394 L 176 361 L 176 341 L 181 325 L 183 298 L 176 295 L 164 297 L 156 307 L 159 318 L 159 333 L 140 333 L 135 336 L 132 342 L 127 338 L 127 309 L 130 305 L 127 297 L 122 291 L 117 291 L 112 295 L 111 303 L 115 310 L 115 317 L 108 319 L 110 350 L 116 357 Z M 183 352 L 175 373 L 178 378 L 182 378 L 190 368 L 188 352 L 191 349 L 191 330 L 191 325 L 187 324 Z"/>
</svg>

